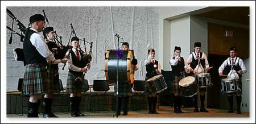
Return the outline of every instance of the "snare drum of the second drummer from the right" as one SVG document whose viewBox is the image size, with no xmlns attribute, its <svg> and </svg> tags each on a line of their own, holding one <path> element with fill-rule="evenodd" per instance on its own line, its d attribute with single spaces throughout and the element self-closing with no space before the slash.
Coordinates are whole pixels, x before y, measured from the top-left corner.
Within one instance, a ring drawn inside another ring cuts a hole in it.
<svg viewBox="0 0 256 124">
<path fill-rule="evenodd" d="M 199 88 L 212 86 L 212 82 L 210 81 L 210 73 L 196 73 L 195 78 Z"/>
</svg>

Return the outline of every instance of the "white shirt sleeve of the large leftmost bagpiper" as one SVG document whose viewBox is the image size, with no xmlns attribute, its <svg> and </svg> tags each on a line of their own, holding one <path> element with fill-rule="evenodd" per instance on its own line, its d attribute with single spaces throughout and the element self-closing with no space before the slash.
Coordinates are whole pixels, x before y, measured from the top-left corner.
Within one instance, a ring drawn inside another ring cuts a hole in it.
<svg viewBox="0 0 256 124">
<path fill-rule="evenodd" d="M 43 36 L 38 34 L 38 31 L 34 28 L 30 28 L 31 30 L 35 31 L 36 33 L 33 33 L 30 36 L 30 42 L 33 46 L 35 46 L 36 50 L 45 57 L 46 59 L 49 59 L 51 61 L 55 60 L 55 57 L 51 51 L 49 51 L 49 48 L 46 44 L 46 40 L 44 40 Z"/>
</svg>

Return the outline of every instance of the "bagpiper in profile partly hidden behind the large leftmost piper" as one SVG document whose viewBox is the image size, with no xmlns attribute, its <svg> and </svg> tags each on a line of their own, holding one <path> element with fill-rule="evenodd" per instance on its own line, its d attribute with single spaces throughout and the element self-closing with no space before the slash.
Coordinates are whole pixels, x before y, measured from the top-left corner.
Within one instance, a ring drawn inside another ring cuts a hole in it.
<svg viewBox="0 0 256 124">
<path fill-rule="evenodd" d="M 55 55 L 55 61 L 48 60 L 47 70 L 48 70 L 48 81 L 47 81 L 47 89 L 46 94 L 44 95 L 43 99 L 43 118 L 49 117 L 57 117 L 51 111 L 52 101 L 53 101 L 53 93 L 60 92 L 60 84 L 59 84 L 59 63 L 66 63 L 67 60 L 57 58 L 56 51 L 57 51 L 57 44 L 52 40 L 55 38 L 55 32 L 53 27 L 46 27 L 43 30 L 44 38 L 46 39 L 46 44 L 50 51 L 52 51 L 53 55 Z"/>
</svg>

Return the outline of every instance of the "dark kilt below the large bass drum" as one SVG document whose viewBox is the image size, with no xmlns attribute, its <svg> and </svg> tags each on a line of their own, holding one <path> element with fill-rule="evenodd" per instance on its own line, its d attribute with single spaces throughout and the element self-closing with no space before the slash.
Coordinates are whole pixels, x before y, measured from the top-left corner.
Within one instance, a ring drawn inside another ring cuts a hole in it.
<svg viewBox="0 0 256 124">
<path fill-rule="evenodd" d="M 133 85 L 131 85 L 129 82 L 126 81 L 118 81 L 118 96 L 126 97 L 126 96 L 132 96 L 131 88 Z M 114 88 L 116 90 L 116 88 Z M 114 93 L 114 96 L 117 96 L 116 93 Z"/>
</svg>

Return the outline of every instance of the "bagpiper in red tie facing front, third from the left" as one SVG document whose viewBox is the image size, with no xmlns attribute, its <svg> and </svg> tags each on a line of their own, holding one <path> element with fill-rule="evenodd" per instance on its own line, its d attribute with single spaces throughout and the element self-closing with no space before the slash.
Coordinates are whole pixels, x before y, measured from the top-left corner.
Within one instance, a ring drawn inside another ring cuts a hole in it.
<svg viewBox="0 0 256 124">
<path fill-rule="evenodd" d="M 69 50 L 66 55 L 68 56 L 68 80 L 67 80 L 67 86 L 66 90 L 70 94 L 70 107 L 71 107 L 71 116 L 72 117 L 79 117 L 84 116 L 80 112 L 79 106 L 81 102 L 81 92 L 86 92 L 85 90 L 85 80 L 83 73 L 87 72 L 86 68 L 82 67 L 81 58 L 84 56 L 84 53 L 82 53 L 79 48 L 79 38 L 76 36 L 71 38 L 71 46 L 73 47 L 71 50 Z M 88 63 L 92 59 L 91 56 L 88 57 Z M 85 64 L 86 65 L 86 64 Z M 90 68 L 90 64 L 88 65 L 88 68 Z"/>
</svg>

